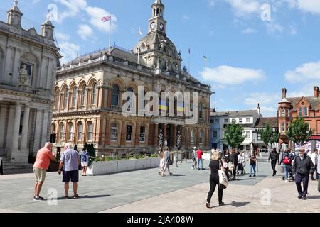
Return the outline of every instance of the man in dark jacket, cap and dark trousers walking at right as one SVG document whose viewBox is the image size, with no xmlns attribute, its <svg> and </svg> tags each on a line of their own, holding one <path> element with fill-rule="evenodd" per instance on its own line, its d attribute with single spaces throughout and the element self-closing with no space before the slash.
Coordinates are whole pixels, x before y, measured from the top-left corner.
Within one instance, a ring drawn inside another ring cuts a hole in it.
<svg viewBox="0 0 320 227">
<path fill-rule="evenodd" d="M 304 149 L 299 149 L 299 156 L 294 158 L 293 170 L 296 174 L 296 185 L 299 193 L 298 199 L 306 199 L 308 194 L 309 175 L 314 170 L 314 163 L 311 158 L 304 153 Z M 302 190 L 301 183 L 304 189 Z"/>
</svg>

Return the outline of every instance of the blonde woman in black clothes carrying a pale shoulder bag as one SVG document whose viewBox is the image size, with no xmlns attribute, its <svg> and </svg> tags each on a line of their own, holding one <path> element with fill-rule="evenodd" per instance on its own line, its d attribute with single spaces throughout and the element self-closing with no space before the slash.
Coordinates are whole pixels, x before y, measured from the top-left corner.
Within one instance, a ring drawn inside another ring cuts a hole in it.
<svg viewBox="0 0 320 227">
<path fill-rule="evenodd" d="M 206 207 L 210 208 L 210 201 L 215 192 L 215 188 L 218 186 L 218 202 L 219 206 L 223 206 L 223 189 L 228 187 L 228 178 L 225 175 L 225 167 L 227 163 L 219 160 L 220 154 L 218 152 L 213 153 L 210 161 L 210 191 L 208 192 L 208 198 L 206 201 Z"/>
</svg>

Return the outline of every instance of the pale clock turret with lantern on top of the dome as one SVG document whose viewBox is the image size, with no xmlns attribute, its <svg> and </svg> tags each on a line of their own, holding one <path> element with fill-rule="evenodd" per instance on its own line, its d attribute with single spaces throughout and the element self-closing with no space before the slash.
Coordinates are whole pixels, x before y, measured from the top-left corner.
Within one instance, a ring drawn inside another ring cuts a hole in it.
<svg viewBox="0 0 320 227">
<path fill-rule="evenodd" d="M 166 21 L 164 20 L 164 4 L 161 0 L 154 1 L 152 4 L 152 18 L 149 19 L 148 33 L 166 33 Z"/>
</svg>

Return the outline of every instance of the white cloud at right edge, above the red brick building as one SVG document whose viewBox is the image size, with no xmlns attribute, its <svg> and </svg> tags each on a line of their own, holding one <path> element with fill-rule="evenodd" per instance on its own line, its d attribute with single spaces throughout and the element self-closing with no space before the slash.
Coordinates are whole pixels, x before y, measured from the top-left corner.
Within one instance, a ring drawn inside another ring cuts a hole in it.
<svg viewBox="0 0 320 227">
<path fill-rule="evenodd" d="M 289 70 L 285 74 L 288 82 L 298 83 L 313 80 L 320 82 L 320 60 L 300 65 L 295 70 Z"/>
</svg>

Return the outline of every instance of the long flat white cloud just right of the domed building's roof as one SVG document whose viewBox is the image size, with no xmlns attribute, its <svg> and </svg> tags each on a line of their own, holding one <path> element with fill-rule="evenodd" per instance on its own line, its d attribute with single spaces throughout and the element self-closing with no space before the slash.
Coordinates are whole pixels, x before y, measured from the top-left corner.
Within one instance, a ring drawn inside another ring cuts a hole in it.
<svg viewBox="0 0 320 227">
<path fill-rule="evenodd" d="M 201 77 L 207 81 L 222 85 L 238 85 L 247 81 L 252 82 L 266 78 L 263 70 L 235 68 L 226 65 L 217 68 L 207 68 L 201 72 Z"/>
</svg>

